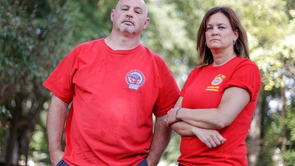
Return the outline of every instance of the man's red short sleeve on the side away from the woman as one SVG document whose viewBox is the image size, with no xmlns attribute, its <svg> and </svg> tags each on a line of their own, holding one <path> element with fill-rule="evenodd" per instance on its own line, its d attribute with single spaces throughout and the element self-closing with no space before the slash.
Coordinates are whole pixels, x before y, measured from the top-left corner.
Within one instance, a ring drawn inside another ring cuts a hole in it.
<svg viewBox="0 0 295 166">
<path fill-rule="evenodd" d="M 74 54 L 75 49 L 59 63 L 43 83 L 43 86 L 65 103 L 71 103 L 73 100 L 73 61 L 71 59 Z"/>
</svg>

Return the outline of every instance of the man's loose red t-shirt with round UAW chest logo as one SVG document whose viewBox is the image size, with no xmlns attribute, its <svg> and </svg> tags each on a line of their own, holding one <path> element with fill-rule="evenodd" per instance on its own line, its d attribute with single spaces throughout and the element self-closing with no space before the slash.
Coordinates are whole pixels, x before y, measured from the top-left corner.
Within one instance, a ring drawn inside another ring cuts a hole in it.
<svg viewBox="0 0 295 166">
<path fill-rule="evenodd" d="M 149 153 L 152 114 L 166 114 L 179 93 L 160 56 L 141 44 L 115 51 L 104 39 L 78 45 L 43 85 L 73 101 L 65 127 L 68 165 L 137 165 Z"/>
</svg>

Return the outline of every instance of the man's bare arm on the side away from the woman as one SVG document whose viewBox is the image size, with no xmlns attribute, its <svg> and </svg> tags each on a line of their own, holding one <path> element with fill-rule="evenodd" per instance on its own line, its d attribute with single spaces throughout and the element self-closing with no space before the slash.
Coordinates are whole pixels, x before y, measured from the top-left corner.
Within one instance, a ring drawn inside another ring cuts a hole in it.
<svg viewBox="0 0 295 166">
<path fill-rule="evenodd" d="M 61 149 L 65 119 L 67 116 L 68 103 L 61 101 L 55 95 L 52 96 L 47 114 L 48 148 L 51 164 L 57 165 L 63 158 Z"/>
</svg>

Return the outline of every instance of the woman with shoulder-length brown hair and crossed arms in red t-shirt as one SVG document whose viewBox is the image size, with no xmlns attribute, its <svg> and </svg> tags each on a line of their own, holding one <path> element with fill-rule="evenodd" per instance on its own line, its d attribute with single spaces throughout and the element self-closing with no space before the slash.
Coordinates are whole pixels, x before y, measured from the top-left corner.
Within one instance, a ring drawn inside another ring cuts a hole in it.
<svg viewBox="0 0 295 166">
<path fill-rule="evenodd" d="M 215 7 L 197 34 L 199 62 L 184 84 L 167 126 L 181 135 L 179 165 L 248 165 L 249 133 L 261 79 L 249 59 L 237 14 Z"/>
</svg>

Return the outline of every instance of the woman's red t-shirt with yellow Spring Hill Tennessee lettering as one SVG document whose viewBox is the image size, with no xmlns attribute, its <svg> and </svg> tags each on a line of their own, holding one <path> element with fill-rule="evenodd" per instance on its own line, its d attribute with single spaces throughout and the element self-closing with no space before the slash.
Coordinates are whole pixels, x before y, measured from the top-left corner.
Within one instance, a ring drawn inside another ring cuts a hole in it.
<svg viewBox="0 0 295 166">
<path fill-rule="evenodd" d="M 226 141 L 208 148 L 197 137 L 181 137 L 178 161 L 182 165 L 248 165 L 245 139 L 261 86 L 257 65 L 249 59 L 235 57 L 222 66 L 198 66 L 189 75 L 179 95 L 183 96 L 183 108 L 217 108 L 224 90 L 231 86 L 247 89 L 251 99 L 229 126 L 218 130 Z"/>
</svg>

